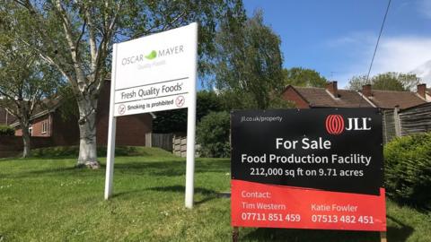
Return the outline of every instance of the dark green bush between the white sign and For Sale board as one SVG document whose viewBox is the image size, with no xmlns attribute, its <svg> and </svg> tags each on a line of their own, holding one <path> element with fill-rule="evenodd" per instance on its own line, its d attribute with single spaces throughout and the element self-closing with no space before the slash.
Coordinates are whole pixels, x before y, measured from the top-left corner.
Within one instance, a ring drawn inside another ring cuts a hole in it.
<svg viewBox="0 0 431 242">
<path fill-rule="evenodd" d="M 205 157 L 229 157 L 230 116 L 228 112 L 212 112 L 198 124 L 200 153 Z"/>
</svg>

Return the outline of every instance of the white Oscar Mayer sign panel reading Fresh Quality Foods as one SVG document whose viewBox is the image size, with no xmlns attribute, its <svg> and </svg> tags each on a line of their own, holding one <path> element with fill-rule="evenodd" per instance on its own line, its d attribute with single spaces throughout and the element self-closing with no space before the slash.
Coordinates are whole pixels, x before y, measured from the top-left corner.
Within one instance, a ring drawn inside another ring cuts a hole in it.
<svg viewBox="0 0 431 242">
<path fill-rule="evenodd" d="M 188 108 L 197 38 L 188 25 L 116 45 L 114 116 Z"/>
</svg>

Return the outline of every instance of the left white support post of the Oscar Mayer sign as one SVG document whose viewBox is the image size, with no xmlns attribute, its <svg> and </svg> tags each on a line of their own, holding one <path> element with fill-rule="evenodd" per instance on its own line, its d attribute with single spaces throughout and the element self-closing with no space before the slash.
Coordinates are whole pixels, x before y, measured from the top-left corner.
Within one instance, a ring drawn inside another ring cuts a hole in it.
<svg viewBox="0 0 431 242">
<path fill-rule="evenodd" d="M 115 133 L 117 117 L 114 117 L 115 76 L 117 63 L 117 44 L 113 46 L 112 73 L 110 73 L 110 123 L 108 126 L 108 151 L 106 154 L 105 200 L 112 194 L 112 180 L 114 177 Z"/>
</svg>

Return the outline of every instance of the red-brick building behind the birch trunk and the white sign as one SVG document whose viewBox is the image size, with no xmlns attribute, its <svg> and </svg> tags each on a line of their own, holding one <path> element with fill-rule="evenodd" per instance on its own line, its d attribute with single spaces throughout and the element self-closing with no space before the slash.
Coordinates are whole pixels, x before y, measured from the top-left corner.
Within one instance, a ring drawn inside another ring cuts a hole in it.
<svg viewBox="0 0 431 242">
<path fill-rule="evenodd" d="M 52 146 L 79 144 L 78 118 L 66 115 L 62 108 L 64 101 L 54 101 L 50 108 L 37 108 L 31 117 L 31 136 L 46 137 Z M 106 146 L 108 143 L 108 124 L 110 113 L 110 81 L 107 80 L 101 89 L 96 116 L 97 144 Z M 139 114 L 117 117 L 116 143 L 119 145 L 145 145 L 145 134 L 153 129 L 153 114 Z M 21 136 L 22 130 L 18 122 L 11 126 L 15 135 Z"/>
</svg>

